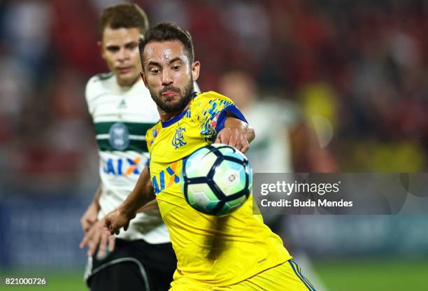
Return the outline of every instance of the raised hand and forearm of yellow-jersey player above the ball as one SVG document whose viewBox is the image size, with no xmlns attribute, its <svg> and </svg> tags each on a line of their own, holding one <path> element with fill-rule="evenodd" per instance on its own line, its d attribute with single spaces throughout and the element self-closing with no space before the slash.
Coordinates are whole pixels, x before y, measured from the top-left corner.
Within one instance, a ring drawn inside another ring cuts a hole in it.
<svg viewBox="0 0 428 291">
<path fill-rule="evenodd" d="M 248 123 L 228 116 L 224 122 L 224 129 L 217 134 L 216 143 L 224 143 L 233 146 L 241 152 L 246 152 L 250 148 L 250 142 L 254 140 L 255 132 Z"/>
</svg>

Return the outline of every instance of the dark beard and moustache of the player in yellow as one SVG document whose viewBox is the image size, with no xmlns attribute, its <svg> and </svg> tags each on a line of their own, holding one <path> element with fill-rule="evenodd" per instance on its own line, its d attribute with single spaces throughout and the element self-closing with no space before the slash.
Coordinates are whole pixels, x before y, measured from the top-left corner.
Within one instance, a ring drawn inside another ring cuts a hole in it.
<svg viewBox="0 0 428 291">
<path fill-rule="evenodd" d="M 184 87 L 183 94 L 181 94 L 182 90 L 172 86 L 164 87 L 159 92 L 153 92 L 152 90 L 149 89 L 150 95 L 152 95 L 153 101 L 155 101 L 157 106 L 159 106 L 159 108 L 161 108 L 162 111 L 164 111 L 165 113 L 175 113 L 178 111 L 183 111 L 183 109 L 186 108 L 187 104 L 189 104 L 190 100 L 192 99 L 193 90 L 194 90 L 193 81 L 190 81 L 190 83 L 188 83 Z M 162 93 L 166 91 L 177 92 L 178 94 L 181 94 L 182 97 L 176 103 L 168 104 L 162 101 Z"/>
</svg>

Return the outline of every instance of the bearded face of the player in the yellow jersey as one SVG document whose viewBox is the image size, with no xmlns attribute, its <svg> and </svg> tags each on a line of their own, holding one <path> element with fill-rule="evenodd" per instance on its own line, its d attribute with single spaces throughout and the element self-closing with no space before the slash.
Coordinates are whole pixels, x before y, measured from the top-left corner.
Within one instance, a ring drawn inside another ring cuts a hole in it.
<svg viewBox="0 0 428 291">
<path fill-rule="evenodd" d="M 152 41 L 143 51 L 141 73 L 152 99 L 165 113 L 179 113 L 192 98 L 199 62 L 190 62 L 180 41 Z"/>
</svg>

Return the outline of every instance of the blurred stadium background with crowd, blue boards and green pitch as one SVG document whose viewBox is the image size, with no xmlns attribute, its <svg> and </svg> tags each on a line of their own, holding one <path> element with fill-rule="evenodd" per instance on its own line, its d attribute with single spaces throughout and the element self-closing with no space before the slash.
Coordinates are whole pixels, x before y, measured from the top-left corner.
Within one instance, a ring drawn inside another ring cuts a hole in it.
<svg viewBox="0 0 428 291">
<path fill-rule="evenodd" d="M 327 120 L 339 171 L 427 171 L 428 1 L 136 2 L 192 33 L 201 90 L 240 68 Z M 97 20 L 113 3 L 0 3 L 0 274 L 46 278 L 34 290 L 85 288 L 78 220 L 99 177 L 83 92 L 106 71 Z M 427 286 L 427 216 L 292 217 L 285 234 L 328 290 Z"/>
</svg>

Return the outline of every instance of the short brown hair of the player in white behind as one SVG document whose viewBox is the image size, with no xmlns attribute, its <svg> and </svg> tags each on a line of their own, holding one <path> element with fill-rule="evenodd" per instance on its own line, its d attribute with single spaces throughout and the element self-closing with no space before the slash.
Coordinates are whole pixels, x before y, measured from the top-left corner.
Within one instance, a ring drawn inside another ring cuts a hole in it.
<svg viewBox="0 0 428 291">
<path fill-rule="evenodd" d="M 136 3 L 121 3 L 110 6 L 101 12 L 99 20 L 101 37 L 106 27 L 112 29 L 136 27 L 140 29 L 141 34 L 144 34 L 149 27 L 148 17 Z"/>
</svg>

